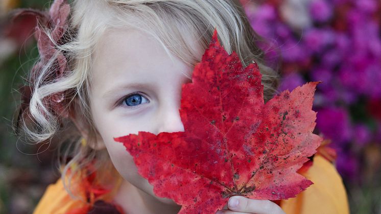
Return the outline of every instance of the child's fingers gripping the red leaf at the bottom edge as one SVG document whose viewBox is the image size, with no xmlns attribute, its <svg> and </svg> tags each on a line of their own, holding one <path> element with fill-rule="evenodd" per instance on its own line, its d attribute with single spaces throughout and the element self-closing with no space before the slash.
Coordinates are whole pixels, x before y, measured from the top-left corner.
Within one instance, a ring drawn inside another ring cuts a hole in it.
<svg viewBox="0 0 381 214">
<path fill-rule="evenodd" d="M 238 202 L 238 203 L 237 203 Z M 236 206 L 233 206 L 237 204 Z M 227 207 L 216 212 L 216 214 L 256 213 L 256 214 L 285 214 L 285 212 L 270 200 L 254 200 L 243 196 L 229 198 Z"/>
</svg>

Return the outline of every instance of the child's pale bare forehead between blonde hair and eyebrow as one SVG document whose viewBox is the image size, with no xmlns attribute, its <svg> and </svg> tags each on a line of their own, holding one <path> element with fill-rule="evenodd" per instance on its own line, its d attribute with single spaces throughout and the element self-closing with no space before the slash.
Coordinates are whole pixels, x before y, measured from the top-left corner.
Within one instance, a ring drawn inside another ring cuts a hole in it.
<svg viewBox="0 0 381 214">
<path fill-rule="evenodd" d="M 96 93 L 115 85 L 157 82 L 163 77 L 176 81 L 179 75 L 190 77 L 193 70 L 167 53 L 152 35 L 138 29 L 108 30 L 97 43 L 94 56 L 91 84 Z"/>
</svg>

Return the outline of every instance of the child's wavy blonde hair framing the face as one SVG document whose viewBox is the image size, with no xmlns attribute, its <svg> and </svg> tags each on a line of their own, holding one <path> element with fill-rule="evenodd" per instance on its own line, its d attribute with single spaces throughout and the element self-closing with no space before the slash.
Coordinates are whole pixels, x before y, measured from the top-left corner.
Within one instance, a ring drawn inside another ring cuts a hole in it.
<svg viewBox="0 0 381 214">
<path fill-rule="evenodd" d="M 67 90 L 74 91 L 72 99 L 78 100 L 79 110 L 89 125 L 89 136 L 94 139 L 97 130 L 92 124 L 88 100 L 94 47 L 108 29 L 126 27 L 150 33 L 166 52 L 188 65 L 195 65 L 201 56 L 186 37 L 196 38 L 205 50 L 217 28 L 218 39 L 228 54 L 236 52 L 244 67 L 253 60 L 258 63 L 263 75 L 265 101 L 276 92 L 278 74 L 263 64 L 263 52 L 255 45 L 260 37 L 252 30 L 239 0 L 77 0 L 72 3 L 69 29 L 64 35 L 66 41 L 62 45 L 55 43 L 55 48 L 66 56 L 69 70 L 63 78 L 46 81 L 47 71 L 54 66 L 55 59 L 46 64 L 35 80 L 29 105 L 28 113 L 35 128 L 29 128 L 26 120 L 21 121 L 23 130 L 33 141 L 49 140 L 61 130 L 62 121 L 45 106 L 43 98 Z M 71 105 L 69 102 L 67 108 Z M 70 121 L 67 124 L 74 126 Z M 62 169 L 63 180 L 73 164 L 76 170 L 94 159 L 103 160 L 98 161 L 100 165 L 96 169 L 112 165 L 107 151 L 96 151 L 80 143 L 80 132 L 75 132 L 72 138 L 75 139 L 71 144 L 74 148 L 67 149 L 64 157 L 71 153 L 73 158 Z M 95 143 L 88 139 L 88 144 Z"/>
</svg>

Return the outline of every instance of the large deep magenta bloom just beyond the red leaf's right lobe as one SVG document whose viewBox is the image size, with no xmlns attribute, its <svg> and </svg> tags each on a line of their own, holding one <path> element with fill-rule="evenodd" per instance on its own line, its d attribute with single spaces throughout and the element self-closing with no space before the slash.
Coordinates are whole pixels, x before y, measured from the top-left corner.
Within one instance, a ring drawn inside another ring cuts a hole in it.
<svg viewBox="0 0 381 214">
<path fill-rule="evenodd" d="M 323 108 L 318 111 L 316 127 L 332 144 L 346 144 L 351 138 L 348 112 L 344 108 Z"/>
</svg>

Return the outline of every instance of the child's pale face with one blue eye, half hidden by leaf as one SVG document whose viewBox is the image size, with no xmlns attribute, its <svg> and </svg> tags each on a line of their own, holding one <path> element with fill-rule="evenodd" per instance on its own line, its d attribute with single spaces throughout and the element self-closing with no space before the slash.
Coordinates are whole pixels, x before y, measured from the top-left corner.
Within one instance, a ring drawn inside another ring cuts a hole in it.
<svg viewBox="0 0 381 214">
<path fill-rule="evenodd" d="M 201 50 L 194 47 L 201 59 Z M 176 57 L 172 62 L 157 40 L 138 30 L 111 30 L 95 53 L 90 94 L 93 121 L 116 170 L 154 196 L 153 187 L 138 175 L 132 156 L 113 137 L 138 131 L 184 131 L 179 115 L 181 86 L 190 82 L 184 74 L 190 77 L 193 67 Z"/>
</svg>

